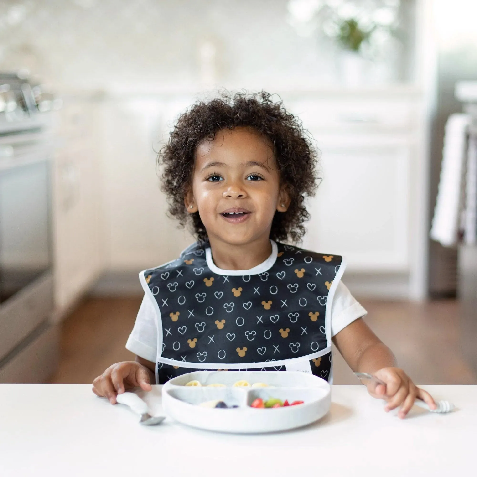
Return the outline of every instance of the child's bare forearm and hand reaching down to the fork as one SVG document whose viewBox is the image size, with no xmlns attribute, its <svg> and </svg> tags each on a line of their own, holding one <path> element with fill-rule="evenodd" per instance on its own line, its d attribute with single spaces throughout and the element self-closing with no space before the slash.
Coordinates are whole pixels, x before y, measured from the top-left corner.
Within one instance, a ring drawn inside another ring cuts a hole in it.
<svg viewBox="0 0 477 477">
<path fill-rule="evenodd" d="M 353 321 L 333 337 L 333 343 L 354 372 L 374 374 L 386 383 L 378 385 L 373 397 L 387 400 L 384 410 L 390 411 L 398 406 L 399 417 L 403 418 L 419 397 L 431 409 L 436 409 L 432 396 L 416 387 L 409 376 L 397 367 L 392 351 L 370 330 L 362 318 Z"/>
</svg>

